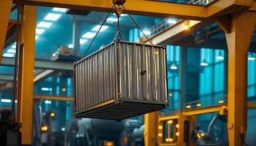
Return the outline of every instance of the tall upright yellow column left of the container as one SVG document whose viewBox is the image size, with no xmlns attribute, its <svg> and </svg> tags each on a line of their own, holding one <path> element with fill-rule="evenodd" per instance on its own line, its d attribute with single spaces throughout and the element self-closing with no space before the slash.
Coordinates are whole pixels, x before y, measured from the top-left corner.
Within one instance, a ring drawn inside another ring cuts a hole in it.
<svg viewBox="0 0 256 146">
<path fill-rule="evenodd" d="M 32 144 L 32 111 L 34 96 L 35 24 L 37 7 L 25 5 L 21 25 L 21 52 L 18 77 L 17 118 L 22 123 L 21 144 Z M 21 68 L 22 67 L 22 68 Z M 19 101 L 20 100 L 20 101 Z"/>
</svg>

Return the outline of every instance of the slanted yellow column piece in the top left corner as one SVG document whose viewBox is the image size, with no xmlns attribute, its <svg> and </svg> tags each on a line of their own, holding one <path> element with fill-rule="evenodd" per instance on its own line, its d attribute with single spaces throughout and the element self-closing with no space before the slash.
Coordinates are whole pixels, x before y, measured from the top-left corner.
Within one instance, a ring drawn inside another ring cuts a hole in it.
<svg viewBox="0 0 256 146">
<path fill-rule="evenodd" d="M 0 1 L 1 10 L 0 10 L 0 64 L 2 59 L 2 50 L 4 49 L 5 36 L 7 33 L 8 23 L 10 19 L 10 12 L 12 9 L 12 0 Z"/>
</svg>

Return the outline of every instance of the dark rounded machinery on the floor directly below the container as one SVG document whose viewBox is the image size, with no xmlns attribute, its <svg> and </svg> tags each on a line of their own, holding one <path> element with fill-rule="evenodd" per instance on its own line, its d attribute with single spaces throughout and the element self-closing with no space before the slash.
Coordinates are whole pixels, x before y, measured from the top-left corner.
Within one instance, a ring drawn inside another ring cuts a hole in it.
<svg viewBox="0 0 256 146">
<path fill-rule="evenodd" d="M 125 121 L 115 122 L 103 119 L 80 119 L 75 145 L 120 145 Z"/>
</svg>

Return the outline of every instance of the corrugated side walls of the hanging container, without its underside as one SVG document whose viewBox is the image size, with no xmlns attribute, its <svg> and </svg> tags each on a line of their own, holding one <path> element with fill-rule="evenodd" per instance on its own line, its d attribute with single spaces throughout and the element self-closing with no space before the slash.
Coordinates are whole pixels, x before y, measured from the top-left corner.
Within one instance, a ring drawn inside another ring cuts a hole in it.
<svg viewBox="0 0 256 146">
<path fill-rule="evenodd" d="M 115 41 L 74 63 L 75 110 L 111 99 L 168 102 L 166 47 Z"/>
</svg>

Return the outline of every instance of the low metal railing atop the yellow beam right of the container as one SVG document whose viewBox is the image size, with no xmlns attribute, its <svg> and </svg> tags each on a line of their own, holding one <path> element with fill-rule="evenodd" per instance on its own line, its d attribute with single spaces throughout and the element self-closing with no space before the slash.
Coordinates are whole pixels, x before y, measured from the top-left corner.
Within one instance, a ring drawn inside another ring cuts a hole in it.
<svg viewBox="0 0 256 146">
<path fill-rule="evenodd" d="M 189 109 L 195 109 L 195 108 L 205 108 L 209 106 L 216 106 L 216 105 L 222 105 L 222 104 L 227 104 L 227 95 L 220 96 L 220 97 L 212 97 L 210 99 L 196 100 L 193 102 L 187 102 L 187 103 L 184 103 L 183 109 L 189 110 Z"/>
</svg>

